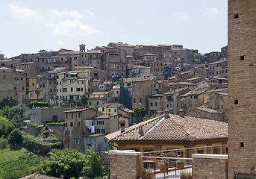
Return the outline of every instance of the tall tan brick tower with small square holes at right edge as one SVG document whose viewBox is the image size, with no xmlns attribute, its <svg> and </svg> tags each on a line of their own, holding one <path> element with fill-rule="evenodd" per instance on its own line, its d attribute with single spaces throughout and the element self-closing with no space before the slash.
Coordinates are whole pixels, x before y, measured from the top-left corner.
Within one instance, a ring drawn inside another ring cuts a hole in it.
<svg viewBox="0 0 256 179">
<path fill-rule="evenodd" d="M 234 175 L 256 176 L 255 0 L 228 0 L 228 178 Z"/>
</svg>

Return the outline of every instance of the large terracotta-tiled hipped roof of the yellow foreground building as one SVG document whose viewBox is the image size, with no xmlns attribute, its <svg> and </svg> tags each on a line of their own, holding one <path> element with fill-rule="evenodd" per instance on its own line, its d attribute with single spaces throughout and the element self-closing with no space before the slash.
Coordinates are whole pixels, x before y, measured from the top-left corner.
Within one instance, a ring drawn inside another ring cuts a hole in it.
<svg viewBox="0 0 256 179">
<path fill-rule="evenodd" d="M 143 134 L 139 134 L 140 125 Z M 210 119 L 170 115 L 168 119 L 157 116 L 125 129 L 122 134 L 116 131 L 106 136 L 112 141 L 123 140 L 170 140 L 196 141 L 203 139 L 228 138 L 228 124 Z"/>
</svg>

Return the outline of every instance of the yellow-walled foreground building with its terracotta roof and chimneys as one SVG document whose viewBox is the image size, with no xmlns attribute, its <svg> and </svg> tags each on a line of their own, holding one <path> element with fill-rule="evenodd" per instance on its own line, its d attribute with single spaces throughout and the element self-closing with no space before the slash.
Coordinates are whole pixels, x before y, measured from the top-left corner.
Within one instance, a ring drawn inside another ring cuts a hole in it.
<svg viewBox="0 0 256 179">
<path fill-rule="evenodd" d="M 163 151 L 177 148 L 224 145 L 228 141 L 228 124 L 189 116 L 157 116 L 106 136 L 119 150 Z M 220 148 L 213 150 L 219 154 Z M 202 151 L 198 151 L 201 153 Z M 224 152 L 224 151 L 223 151 Z"/>
</svg>

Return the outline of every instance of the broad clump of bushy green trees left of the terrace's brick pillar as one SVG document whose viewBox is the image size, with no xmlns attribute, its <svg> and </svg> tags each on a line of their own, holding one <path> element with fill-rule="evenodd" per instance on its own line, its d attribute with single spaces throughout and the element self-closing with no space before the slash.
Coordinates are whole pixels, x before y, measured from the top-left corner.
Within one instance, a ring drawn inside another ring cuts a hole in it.
<svg viewBox="0 0 256 179">
<path fill-rule="evenodd" d="M 88 150 L 86 154 L 83 154 L 72 148 L 53 149 L 48 156 L 48 159 L 37 168 L 42 174 L 55 177 L 64 175 L 65 179 L 81 176 L 96 178 L 103 175 L 102 159 L 93 150 Z"/>
</svg>

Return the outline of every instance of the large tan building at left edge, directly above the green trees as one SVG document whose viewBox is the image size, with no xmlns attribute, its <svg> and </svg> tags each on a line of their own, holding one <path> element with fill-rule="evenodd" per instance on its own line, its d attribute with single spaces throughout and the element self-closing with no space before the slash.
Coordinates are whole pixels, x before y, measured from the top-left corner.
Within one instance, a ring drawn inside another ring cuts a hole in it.
<svg viewBox="0 0 256 179">
<path fill-rule="evenodd" d="M 0 68 L 0 101 L 13 95 L 19 104 L 25 99 L 26 77 L 24 71 L 16 72 L 15 69 Z"/>
</svg>

